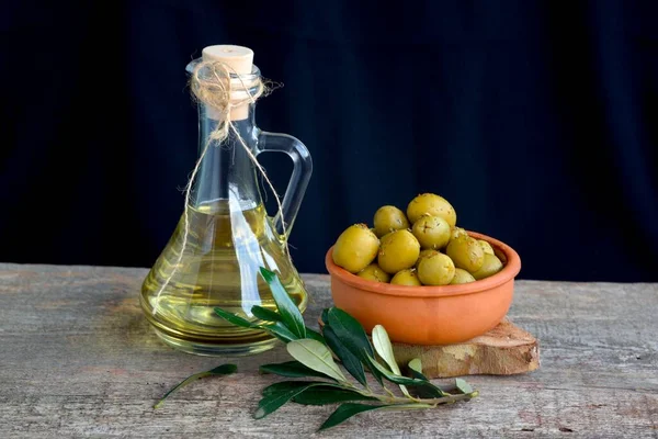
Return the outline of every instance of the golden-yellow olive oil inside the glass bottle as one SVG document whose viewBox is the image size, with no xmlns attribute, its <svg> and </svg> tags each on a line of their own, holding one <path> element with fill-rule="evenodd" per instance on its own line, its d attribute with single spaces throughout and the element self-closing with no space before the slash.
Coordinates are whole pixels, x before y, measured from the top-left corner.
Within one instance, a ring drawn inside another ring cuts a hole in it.
<svg viewBox="0 0 658 439">
<path fill-rule="evenodd" d="M 258 322 L 253 305 L 276 311 L 261 267 L 274 271 L 300 311 L 306 308 L 303 281 L 262 204 L 245 209 L 219 200 L 189 206 L 183 249 L 184 230 L 183 214 L 141 289 L 145 314 L 166 341 L 196 353 L 248 353 L 273 344 L 264 331 L 237 327 L 214 311 L 251 322 Z"/>
</svg>

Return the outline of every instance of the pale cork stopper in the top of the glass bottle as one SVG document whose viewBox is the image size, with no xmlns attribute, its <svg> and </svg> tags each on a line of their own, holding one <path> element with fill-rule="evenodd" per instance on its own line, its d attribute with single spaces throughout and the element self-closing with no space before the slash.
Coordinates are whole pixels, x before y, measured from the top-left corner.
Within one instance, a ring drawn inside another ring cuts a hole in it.
<svg viewBox="0 0 658 439">
<path fill-rule="evenodd" d="M 202 50 L 202 59 L 204 61 L 222 61 L 234 69 L 238 75 L 250 75 L 251 68 L 253 67 L 253 50 L 243 46 L 217 44 L 205 47 Z M 249 83 L 246 83 L 246 86 L 249 86 Z M 236 88 L 243 88 L 243 86 L 237 81 L 236 83 L 231 83 L 231 88 L 235 90 Z M 238 92 L 238 94 L 242 95 L 243 93 Z M 212 119 L 218 119 L 218 116 L 213 117 L 214 115 L 211 112 L 208 112 L 207 115 Z M 249 117 L 248 103 L 236 106 L 230 111 L 231 121 L 243 121 L 247 117 Z"/>
</svg>

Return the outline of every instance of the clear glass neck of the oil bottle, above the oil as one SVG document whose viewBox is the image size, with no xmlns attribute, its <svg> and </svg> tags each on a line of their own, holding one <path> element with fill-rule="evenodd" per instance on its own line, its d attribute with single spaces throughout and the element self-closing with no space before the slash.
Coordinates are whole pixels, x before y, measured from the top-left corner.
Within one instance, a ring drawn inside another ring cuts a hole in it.
<svg viewBox="0 0 658 439">
<path fill-rule="evenodd" d="M 211 139 L 219 121 L 212 110 L 198 104 L 198 157 L 201 165 L 193 188 L 192 206 L 204 211 L 250 210 L 262 203 L 251 155 L 256 156 L 258 128 L 254 104 L 245 104 L 243 119 L 231 120 L 223 142 Z M 234 112 L 234 117 L 235 112 Z M 240 117 L 240 116 L 238 116 Z M 235 128 L 235 130 L 234 130 Z M 236 134 L 237 132 L 237 134 Z M 240 143 L 239 137 L 245 145 Z M 204 153 L 205 151 L 205 153 Z"/>
</svg>

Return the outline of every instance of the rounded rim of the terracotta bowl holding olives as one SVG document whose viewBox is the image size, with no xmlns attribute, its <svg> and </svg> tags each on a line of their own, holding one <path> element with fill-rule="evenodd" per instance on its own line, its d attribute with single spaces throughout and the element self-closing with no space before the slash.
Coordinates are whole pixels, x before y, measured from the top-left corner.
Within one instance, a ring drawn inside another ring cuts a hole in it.
<svg viewBox="0 0 658 439">
<path fill-rule="evenodd" d="M 480 279 L 475 282 L 463 283 L 460 285 L 409 286 L 392 285 L 390 283 L 367 281 L 365 279 L 361 279 L 356 274 L 352 274 L 348 270 L 338 267 L 336 263 L 333 263 L 333 259 L 331 257 L 333 246 L 329 248 L 327 255 L 325 256 L 325 264 L 331 277 L 336 277 L 341 282 L 344 282 L 351 286 L 355 286 L 359 290 L 365 290 L 376 294 L 395 295 L 404 297 L 438 299 L 464 294 L 475 294 L 502 285 L 503 283 L 513 280 L 517 277 L 517 274 L 519 274 L 519 272 L 521 271 L 521 258 L 519 257 L 517 250 L 490 236 L 472 230 L 466 230 L 466 233 L 476 239 L 484 239 L 487 243 L 489 243 L 491 247 L 494 247 L 494 252 L 502 254 L 502 256 L 507 260 L 507 262 L 503 261 L 504 266 L 502 270 L 489 278 Z"/>
</svg>

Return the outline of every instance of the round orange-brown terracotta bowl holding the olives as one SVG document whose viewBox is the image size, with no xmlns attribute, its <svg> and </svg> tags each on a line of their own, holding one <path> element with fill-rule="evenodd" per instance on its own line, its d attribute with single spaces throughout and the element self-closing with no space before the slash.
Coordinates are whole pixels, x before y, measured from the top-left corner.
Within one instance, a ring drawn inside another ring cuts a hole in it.
<svg viewBox="0 0 658 439">
<path fill-rule="evenodd" d="M 467 341 L 492 329 L 506 316 L 514 292 L 521 259 L 508 245 L 475 232 L 468 235 L 488 241 L 503 263 L 498 273 L 470 283 L 445 286 L 406 286 L 367 281 L 333 263 L 327 251 L 325 263 L 331 275 L 331 295 L 371 331 L 386 328 L 392 341 L 411 345 L 451 345 Z"/>
</svg>

